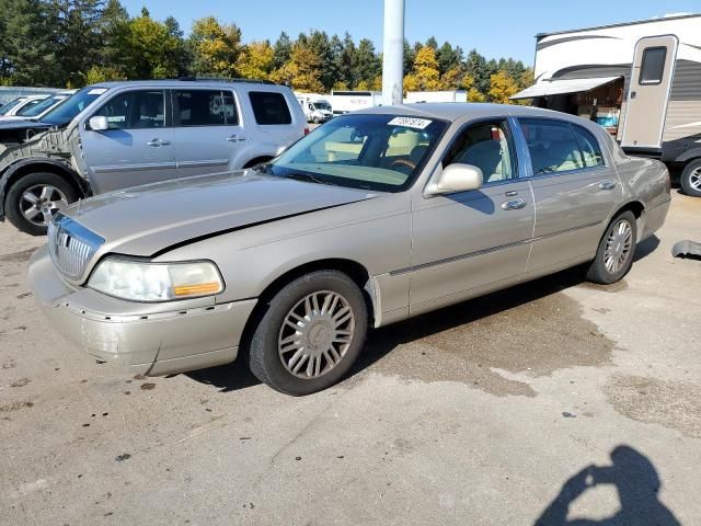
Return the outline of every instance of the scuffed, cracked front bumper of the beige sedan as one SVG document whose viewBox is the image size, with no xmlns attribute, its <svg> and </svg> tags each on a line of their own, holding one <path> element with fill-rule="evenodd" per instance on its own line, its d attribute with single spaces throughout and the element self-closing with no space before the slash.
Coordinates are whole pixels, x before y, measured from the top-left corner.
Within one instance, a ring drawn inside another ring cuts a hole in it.
<svg viewBox="0 0 701 526">
<path fill-rule="evenodd" d="M 100 361 L 149 376 L 235 359 L 256 304 L 255 299 L 214 304 L 211 298 L 200 306 L 135 304 L 73 288 L 60 278 L 46 248 L 32 256 L 28 282 L 42 310 L 68 340 Z"/>
</svg>

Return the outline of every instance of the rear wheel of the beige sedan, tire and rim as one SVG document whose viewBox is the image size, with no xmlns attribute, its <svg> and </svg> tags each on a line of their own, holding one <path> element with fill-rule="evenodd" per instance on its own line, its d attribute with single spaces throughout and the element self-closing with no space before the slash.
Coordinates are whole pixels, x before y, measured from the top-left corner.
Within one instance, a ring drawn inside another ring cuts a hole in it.
<svg viewBox="0 0 701 526">
<path fill-rule="evenodd" d="M 627 210 L 616 216 L 599 241 L 596 258 L 586 273 L 587 279 L 601 285 L 622 279 L 633 265 L 636 239 L 635 215 Z"/>
</svg>

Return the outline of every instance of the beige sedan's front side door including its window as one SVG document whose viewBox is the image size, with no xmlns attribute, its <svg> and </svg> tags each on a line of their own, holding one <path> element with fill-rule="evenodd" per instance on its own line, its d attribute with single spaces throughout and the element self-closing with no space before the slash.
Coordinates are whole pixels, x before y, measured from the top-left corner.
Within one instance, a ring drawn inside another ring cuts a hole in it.
<svg viewBox="0 0 701 526">
<path fill-rule="evenodd" d="M 526 270 L 535 208 L 519 180 L 506 121 L 480 123 L 458 135 L 443 167 L 459 162 L 482 170 L 480 190 L 416 196 L 412 219 L 413 315 L 470 297 L 481 287 Z M 441 168 L 438 168 L 440 170 Z"/>
</svg>

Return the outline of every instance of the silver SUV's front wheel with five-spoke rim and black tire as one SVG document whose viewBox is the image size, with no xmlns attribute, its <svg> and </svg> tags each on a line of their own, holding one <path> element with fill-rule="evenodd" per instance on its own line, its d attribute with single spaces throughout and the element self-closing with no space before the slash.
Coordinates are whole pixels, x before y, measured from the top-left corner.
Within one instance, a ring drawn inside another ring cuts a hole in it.
<svg viewBox="0 0 701 526">
<path fill-rule="evenodd" d="M 78 198 L 76 188 L 50 172 L 21 176 L 8 191 L 5 214 L 12 225 L 32 236 L 44 236 L 54 215 Z"/>
</svg>

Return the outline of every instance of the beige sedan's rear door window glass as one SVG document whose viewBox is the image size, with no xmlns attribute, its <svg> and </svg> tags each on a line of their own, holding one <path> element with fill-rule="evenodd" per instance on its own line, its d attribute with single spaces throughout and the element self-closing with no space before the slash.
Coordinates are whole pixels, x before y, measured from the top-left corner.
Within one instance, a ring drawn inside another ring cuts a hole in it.
<svg viewBox="0 0 701 526">
<path fill-rule="evenodd" d="M 544 119 L 520 119 L 519 123 L 528 144 L 533 175 L 584 168 L 579 145 L 570 124 Z"/>
</svg>

